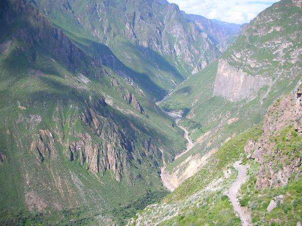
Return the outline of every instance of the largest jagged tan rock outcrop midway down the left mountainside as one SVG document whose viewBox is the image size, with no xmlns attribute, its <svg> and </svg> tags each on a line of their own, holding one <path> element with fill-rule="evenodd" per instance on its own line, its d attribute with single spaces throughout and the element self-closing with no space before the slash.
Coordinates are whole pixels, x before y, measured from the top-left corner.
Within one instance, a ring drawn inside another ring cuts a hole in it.
<svg viewBox="0 0 302 226">
<path fill-rule="evenodd" d="M 87 169 L 94 173 L 113 170 L 116 179 L 120 181 L 122 171 L 133 159 L 133 140 L 120 126 L 93 108 L 88 108 L 81 119 L 102 142 L 93 142 L 89 134 L 79 135 L 80 141 L 69 146 L 69 160 L 79 159 L 81 165 L 87 164 Z"/>
</svg>

